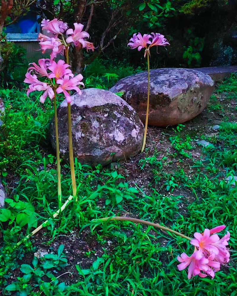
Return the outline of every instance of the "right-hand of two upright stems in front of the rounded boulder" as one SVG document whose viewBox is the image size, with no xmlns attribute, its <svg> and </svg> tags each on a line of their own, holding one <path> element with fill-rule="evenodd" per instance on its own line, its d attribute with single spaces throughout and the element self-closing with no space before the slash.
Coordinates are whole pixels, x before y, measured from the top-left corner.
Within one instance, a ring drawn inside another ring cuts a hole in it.
<svg viewBox="0 0 237 296">
<path fill-rule="evenodd" d="M 75 176 L 73 146 L 72 146 L 72 120 L 71 120 L 71 104 L 70 103 L 68 103 L 68 145 L 69 145 L 69 160 L 70 160 L 71 179 L 72 179 L 72 191 L 73 191 L 73 197 L 77 201 L 76 176 Z"/>
</svg>

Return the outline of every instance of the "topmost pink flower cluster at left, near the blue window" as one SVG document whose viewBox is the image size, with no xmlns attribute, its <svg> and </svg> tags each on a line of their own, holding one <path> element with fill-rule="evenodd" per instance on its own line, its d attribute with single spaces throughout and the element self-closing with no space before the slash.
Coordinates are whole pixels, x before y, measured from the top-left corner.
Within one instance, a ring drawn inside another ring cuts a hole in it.
<svg viewBox="0 0 237 296">
<path fill-rule="evenodd" d="M 46 49 L 52 50 L 50 59 L 54 59 L 57 54 L 64 54 L 66 47 L 68 47 L 70 43 L 73 43 L 75 46 L 82 46 L 83 48 L 86 48 L 87 51 L 89 49 L 94 51 L 95 49 L 93 43 L 84 39 L 89 38 L 90 35 L 87 32 L 82 31 L 82 24 L 74 23 L 75 30 L 73 30 L 68 29 L 68 24 L 62 20 L 53 19 L 49 21 L 44 19 L 41 22 L 41 27 L 52 35 L 49 37 L 40 33 L 38 36 L 42 52 L 45 53 Z M 66 38 L 66 41 L 63 38 L 63 33 L 65 33 L 65 31 L 67 36 L 71 35 Z"/>
</svg>

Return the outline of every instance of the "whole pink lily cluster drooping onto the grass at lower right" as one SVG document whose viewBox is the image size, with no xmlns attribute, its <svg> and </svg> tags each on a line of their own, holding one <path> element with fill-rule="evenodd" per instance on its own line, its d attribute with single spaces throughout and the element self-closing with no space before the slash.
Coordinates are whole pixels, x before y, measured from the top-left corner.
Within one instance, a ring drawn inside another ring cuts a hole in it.
<svg viewBox="0 0 237 296">
<path fill-rule="evenodd" d="M 186 253 L 182 253 L 177 257 L 181 262 L 177 267 L 179 270 L 188 267 L 188 279 L 193 276 L 202 278 L 210 276 L 212 279 L 215 272 L 220 270 L 220 265 L 230 261 L 230 253 L 227 249 L 230 233 L 220 239 L 217 232 L 225 229 L 225 225 L 217 226 L 213 229 L 205 229 L 204 233 L 195 232 L 190 243 L 195 246 L 193 254 L 189 257 Z M 211 235 L 212 234 L 212 235 Z"/>
</svg>

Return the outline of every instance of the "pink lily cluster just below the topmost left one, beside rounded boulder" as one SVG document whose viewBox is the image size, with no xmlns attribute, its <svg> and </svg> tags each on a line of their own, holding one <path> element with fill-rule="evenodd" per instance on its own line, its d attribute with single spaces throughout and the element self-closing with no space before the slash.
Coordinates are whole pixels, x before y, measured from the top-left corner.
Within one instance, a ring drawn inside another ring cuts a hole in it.
<svg viewBox="0 0 237 296">
<path fill-rule="evenodd" d="M 78 85 L 84 86 L 81 82 L 83 76 L 81 74 L 74 76 L 72 71 L 68 69 L 70 65 L 60 59 L 57 63 L 50 59 L 39 59 L 39 65 L 32 63 L 32 67 L 29 67 L 28 72 L 25 74 L 25 83 L 29 83 L 29 89 L 27 95 L 32 91 L 44 91 L 40 97 L 40 102 L 44 103 L 47 96 L 53 99 L 55 96 L 54 89 L 57 94 L 63 92 L 67 102 L 71 103 L 71 96 L 68 91 L 74 89 L 77 93 L 81 94 L 81 90 Z M 42 82 L 38 78 L 45 77 L 47 82 Z M 52 80 L 54 78 L 55 81 Z"/>
</svg>

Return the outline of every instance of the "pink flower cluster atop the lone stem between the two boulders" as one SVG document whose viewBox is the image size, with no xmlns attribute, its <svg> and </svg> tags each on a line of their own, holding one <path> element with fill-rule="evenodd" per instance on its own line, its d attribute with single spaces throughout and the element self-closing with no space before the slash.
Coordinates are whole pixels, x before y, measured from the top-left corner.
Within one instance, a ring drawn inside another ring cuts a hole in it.
<svg viewBox="0 0 237 296">
<path fill-rule="evenodd" d="M 159 33 L 144 34 L 143 36 L 141 33 L 133 34 L 133 37 L 129 41 L 131 42 L 128 43 L 128 46 L 130 46 L 131 49 L 137 48 L 140 52 L 142 48 L 145 48 L 144 57 L 147 53 L 150 54 L 150 48 L 153 46 L 170 45 L 166 38 L 164 38 L 164 35 Z"/>
</svg>

